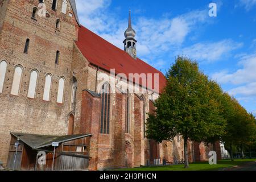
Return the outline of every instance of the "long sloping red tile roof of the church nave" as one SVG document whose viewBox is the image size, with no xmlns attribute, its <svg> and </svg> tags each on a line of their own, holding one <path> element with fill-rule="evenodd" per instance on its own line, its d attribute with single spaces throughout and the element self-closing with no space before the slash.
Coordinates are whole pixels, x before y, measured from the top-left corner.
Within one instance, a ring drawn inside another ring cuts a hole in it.
<svg viewBox="0 0 256 182">
<path fill-rule="evenodd" d="M 166 84 L 166 78 L 162 72 L 151 67 L 141 59 L 133 59 L 128 53 L 115 47 L 85 27 L 81 26 L 79 28 L 79 37 L 76 45 L 91 64 L 97 65 L 100 68 L 107 71 L 115 69 L 116 74 L 125 73 L 127 77 L 129 73 L 146 73 L 146 75 L 148 73 L 159 73 L 158 84 L 160 93 Z M 154 88 L 154 81 L 152 81 L 152 85 Z"/>
</svg>

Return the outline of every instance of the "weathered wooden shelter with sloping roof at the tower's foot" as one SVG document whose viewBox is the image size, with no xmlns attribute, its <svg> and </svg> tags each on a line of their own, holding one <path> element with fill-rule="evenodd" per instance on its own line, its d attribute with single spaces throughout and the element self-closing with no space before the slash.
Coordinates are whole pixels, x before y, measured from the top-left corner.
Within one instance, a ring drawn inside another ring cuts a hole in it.
<svg viewBox="0 0 256 182">
<path fill-rule="evenodd" d="M 15 170 L 86 170 L 90 137 L 92 134 L 51 136 L 11 133 L 7 167 Z M 52 143 L 59 144 L 55 148 L 54 160 Z"/>
</svg>

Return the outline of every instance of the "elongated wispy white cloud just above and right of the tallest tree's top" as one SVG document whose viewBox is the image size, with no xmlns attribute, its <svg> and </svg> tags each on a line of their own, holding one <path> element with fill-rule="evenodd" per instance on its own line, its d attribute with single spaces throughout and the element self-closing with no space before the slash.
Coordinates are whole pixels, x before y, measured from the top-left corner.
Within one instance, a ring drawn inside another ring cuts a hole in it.
<svg viewBox="0 0 256 182">
<path fill-rule="evenodd" d="M 241 46 L 241 43 L 236 43 L 232 40 L 222 40 L 216 43 L 197 43 L 176 53 L 197 61 L 213 62 L 221 58 L 223 59 L 224 56 L 227 56 L 231 51 Z"/>
</svg>

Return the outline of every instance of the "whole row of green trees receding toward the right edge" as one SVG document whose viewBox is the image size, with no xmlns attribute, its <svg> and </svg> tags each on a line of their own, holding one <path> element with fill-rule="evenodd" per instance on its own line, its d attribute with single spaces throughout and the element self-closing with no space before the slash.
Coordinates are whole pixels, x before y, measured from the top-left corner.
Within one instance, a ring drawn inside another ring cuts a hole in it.
<svg viewBox="0 0 256 182">
<path fill-rule="evenodd" d="M 224 142 L 232 160 L 233 147 L 255 146 L 253 114 L 200 72 L 195 61 L 177 57 L 166 78 L 166 88 L 155 101 L 156 112 L 147 119 L 147 137 L 162 143 L 183 135 L 185 168 L 189 167 L 189 140 Z"/>
</svg>

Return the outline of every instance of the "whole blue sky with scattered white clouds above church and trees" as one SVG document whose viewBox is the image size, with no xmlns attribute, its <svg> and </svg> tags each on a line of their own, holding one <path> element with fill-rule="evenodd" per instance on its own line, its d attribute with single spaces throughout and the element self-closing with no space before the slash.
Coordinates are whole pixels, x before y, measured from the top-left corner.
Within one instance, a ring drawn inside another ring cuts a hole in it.
<svg viewBox="0 0 256 182">
<path fill-rule="evenodd" d="M 138 57 L 165 73 L 188 56 L 256 115 L 256 0 L 76 2 L 81 24 L 121 49 L 130 9 Z"/>
</svg>

